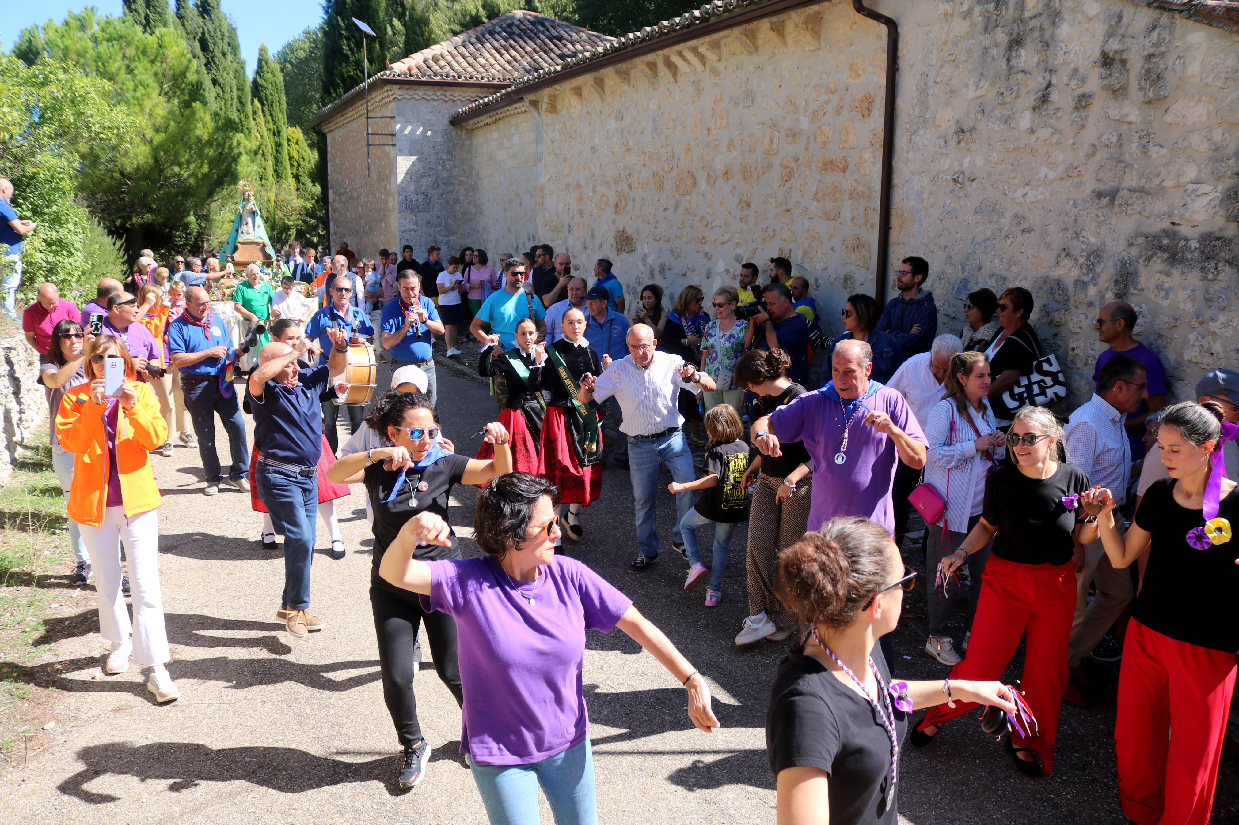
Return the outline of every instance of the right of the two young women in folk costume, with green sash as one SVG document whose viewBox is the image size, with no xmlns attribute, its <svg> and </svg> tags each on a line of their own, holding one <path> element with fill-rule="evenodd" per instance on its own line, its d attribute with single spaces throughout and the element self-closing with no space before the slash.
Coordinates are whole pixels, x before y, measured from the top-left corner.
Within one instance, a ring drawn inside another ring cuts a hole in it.
<svg viewBox="0 0 1239 825">
<path fill-rule="evenodd" d="M 582 376 L 602 372 L 598 354 L 585 340 L 585 313 L 570 307 L 564 336 L 546 348 L 543 390 L 550 391 L 541 428 L 541 460 L 548 481 L 559 487 L 559 526 L 575 542 L 585 531 L 577 517 L 602 494 L 602 429 L 598 406 L 576 401 Z"/>
</svg>

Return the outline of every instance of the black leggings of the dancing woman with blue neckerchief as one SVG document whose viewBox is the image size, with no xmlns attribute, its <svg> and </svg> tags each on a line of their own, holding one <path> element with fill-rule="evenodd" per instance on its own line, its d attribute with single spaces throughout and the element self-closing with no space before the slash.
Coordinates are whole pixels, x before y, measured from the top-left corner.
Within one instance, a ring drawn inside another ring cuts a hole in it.
<svg viewBox="0 0 1239 825">
<path fill-rule="evenodd" d="M 461 668 L 456 660 L 456 620 L 447 613 L 425 612 L 415 592 L 392 592 L 370 585 L 370 607 L 374 611 L 374 632 L 379 642 L 379 668 L 383 672 L 383 701 L 392 714 L 396 736 L 401 746 L 421 740 L 418 725 L 418 699 L 413 693 L 413 678 L 418 663 L 413 660 L 413 646 L 418 641 L 418 626 L 425 623 L 430 654 L 435 658 L 435 670 L 447 689 L 462 705 Z"/>
</svg>

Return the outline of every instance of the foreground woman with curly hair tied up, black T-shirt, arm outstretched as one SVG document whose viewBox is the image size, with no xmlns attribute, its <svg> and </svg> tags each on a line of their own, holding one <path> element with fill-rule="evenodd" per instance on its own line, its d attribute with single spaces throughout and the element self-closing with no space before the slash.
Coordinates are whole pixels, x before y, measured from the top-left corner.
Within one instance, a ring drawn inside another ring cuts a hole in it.
<svg viewBox="0 0 1239 825">
<path fill-rule="evenodd" d="M 997 682 L 892 683 L 875 646 L 898 623 L 901 588 L 914 576 L 886 528 L 856 516 L 779 554 L 779 592 L 809 631 L 779 663 L 766 711 L 778 821 L 895 825 L 914 709 L 981 703 L 1015 712 L 1012 690 Z"/>
</svg>

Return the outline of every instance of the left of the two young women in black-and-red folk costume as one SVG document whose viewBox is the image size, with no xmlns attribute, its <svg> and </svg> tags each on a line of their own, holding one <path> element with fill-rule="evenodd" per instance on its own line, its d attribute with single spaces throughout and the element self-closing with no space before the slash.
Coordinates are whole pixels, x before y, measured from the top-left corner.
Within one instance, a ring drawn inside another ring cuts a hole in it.
<svg viewBox="0 0 1239 825">
<path fill-rule="evenodd" d="M 507 398 L 499 412 L 499 423 L 508 430 L 512 443 L 512 469 L 530 475 L 543 474 L 541 439 L 546 403 L 541 397 L 541 372 L 546 364 L 545 344 L 534 344 L 538 327 L 528 318 L 517 324 L 517 349 L 501 350 L 499 336 L 491 335 L 482 348 L 477 364 L 483 378 L 503 377 Z M 483 442 L 475 456 L 482 461 L 494 458 L 494 445 Z"/>
</svg>

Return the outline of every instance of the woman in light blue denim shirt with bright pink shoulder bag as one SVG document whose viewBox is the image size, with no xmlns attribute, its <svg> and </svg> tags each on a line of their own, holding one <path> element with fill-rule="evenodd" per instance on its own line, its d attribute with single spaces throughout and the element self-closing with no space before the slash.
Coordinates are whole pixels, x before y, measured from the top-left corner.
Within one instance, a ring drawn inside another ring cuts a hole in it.
<svg viewBox="0 0 1239 825">
<path fill-rule="evenodd" d="M 985 480 L 1006 453 L 1006 438 L 997 432 L 994 409 L 985 398 L 990 388 L 990 364 L 981 353 L 958 353 L 950 359 L 944 380 L 947 397 L 929 411 L 926 438 L 929 450 L 926 456 L 924 481 L 938 491 L 947 508 L 943 517 L 929 526 L 926 558 L 938 563 L 952 547 L 959 547 L 969 531 L 981 519 L 985 500 Z M 968 632 L 976 613 L 976 599 L 981 592 L 981 573 L 990 558 L 987 543 L 968 557 L 968 623 L 964 626 L 964 649 L 968 649 Z M 929 568 L 926 568 L 927 570 Z M 955 576 L 942 576 L 935 581 L 929 596 L 929 638 L 926 652 L 943 664 L 959 664 L 950 638 L 950 618 L 955 615 L 955 601 L 961 585 Z"/>
</svg>

